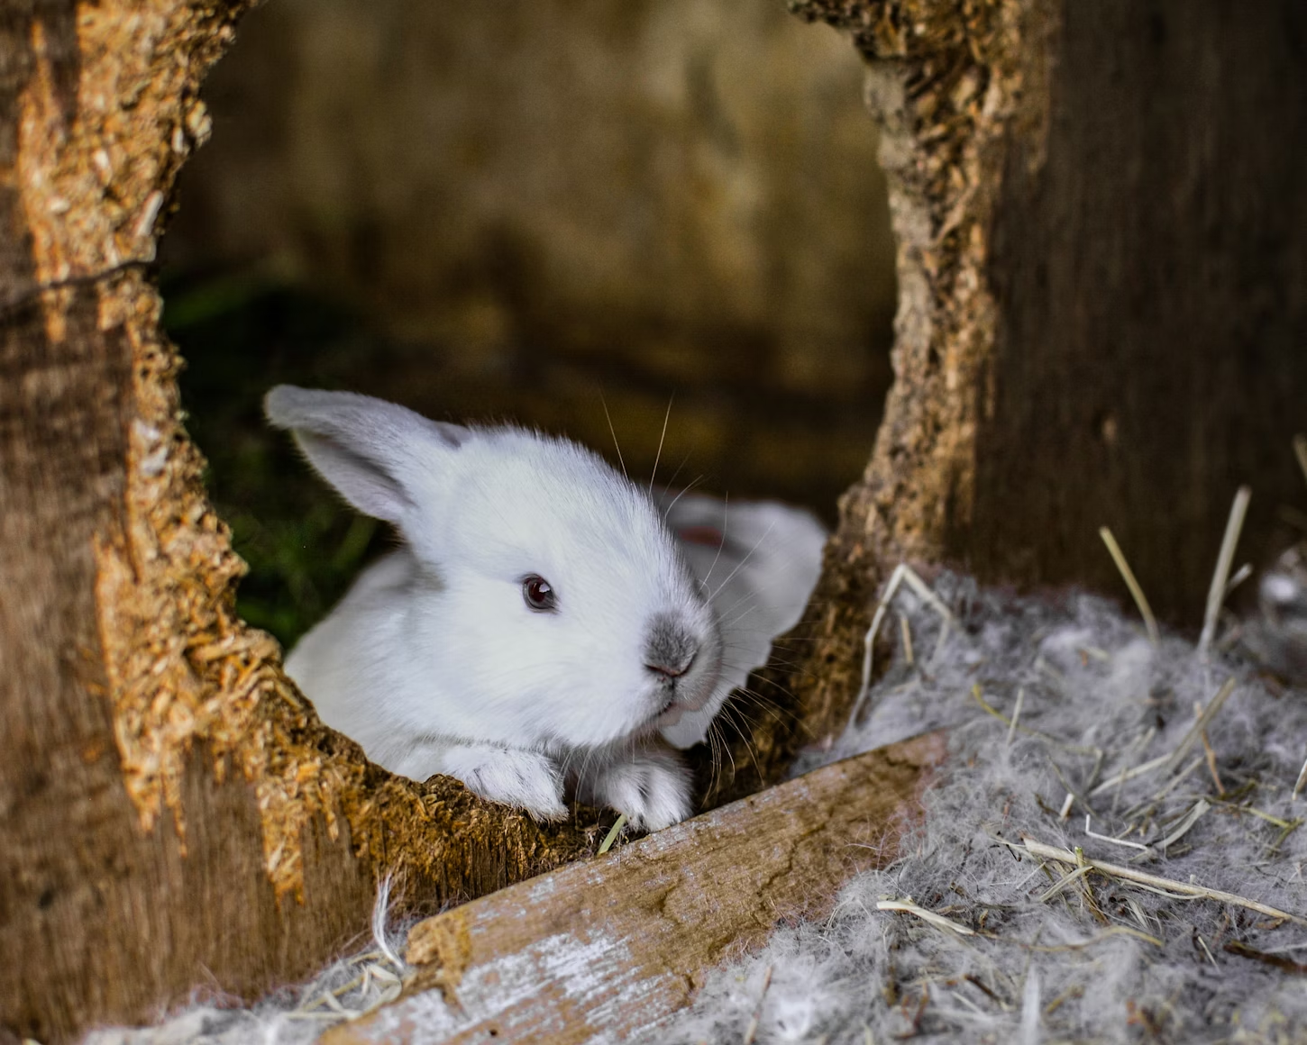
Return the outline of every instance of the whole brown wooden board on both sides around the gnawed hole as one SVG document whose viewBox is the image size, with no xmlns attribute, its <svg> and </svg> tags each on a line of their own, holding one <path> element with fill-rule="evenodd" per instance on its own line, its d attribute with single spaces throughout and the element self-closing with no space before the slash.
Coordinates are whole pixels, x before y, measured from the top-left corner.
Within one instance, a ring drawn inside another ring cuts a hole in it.
<svg viewBox="0 0 1307 1045">
<path fill-rule="evenodd" d="M 797 667 L 763 683 L 784 713 L 714 801 L 838 730 L 894 563 L 1116 590 L 1108 524 L 1193 619 L 1234 487 L 1299 481 L 1307 8 L 792 7 L 869 60 L 897 380 Z M 149 266 L 243 8 L 0 8 L 0 1028 L 44 1042 L 307 973 L 386 871 L 440 904 L 593 839 L 370 765 L 234 613 Z"/>
</svg>

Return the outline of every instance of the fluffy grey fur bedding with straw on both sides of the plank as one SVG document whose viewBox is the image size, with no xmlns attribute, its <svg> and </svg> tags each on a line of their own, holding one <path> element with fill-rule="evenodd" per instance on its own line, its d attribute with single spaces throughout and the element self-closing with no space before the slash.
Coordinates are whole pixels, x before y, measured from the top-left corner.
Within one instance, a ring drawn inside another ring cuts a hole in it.
<svg viewBox="0 0 1307 1045">
<path fill-rule="evenodd" d="M 933 590 L 949 623 L 904 585 L 864 721 L 799 767 L 948 725 L 924 823 L 827 920 L 778 930 L 652 1040 L 1307 1040 L 1307 922 L 1266 913 L 1307 917 L 1307 796 L 1291 797 L 1307 692 L 1179 637 L 1154 647 L 1103 600 L 953 575 Z M 1077 852 L 1145 880 L 1077 867 Z M 308 1041 L 339 1008 L 396 991 L 397 939 L 379 924 L 376 940 L 252 1010 L 196 1007 L 91 1041 Z"/>
</svg>

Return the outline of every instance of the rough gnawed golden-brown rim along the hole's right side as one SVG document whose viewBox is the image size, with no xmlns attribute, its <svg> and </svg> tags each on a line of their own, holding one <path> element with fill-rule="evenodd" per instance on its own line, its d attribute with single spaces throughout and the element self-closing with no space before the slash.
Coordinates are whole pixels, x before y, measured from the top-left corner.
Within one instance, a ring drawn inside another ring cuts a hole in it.
<svg viewBox="0 0 1307 1045">
<path fill-rule="evenodd" d="M 881 124 L 899 244 L 894 385 L 872 460 L 840 499 L 805 618 L 750 682 L 778 712 L 757 716 L 749 743 L 735 746 L 715 798 L 757 790 L 799 747 L 844 728 L 877 588 L 898 563 L 967 560 L 965 542 L 950 538 L 965 534 L 976 496 L 976 425 L 999 316 L 988 230 L 1009 140 L 1038 149 L 1047 108 L 1055 0 L 789 7 L 847 31 L 868 60 L 865 97 Z M 1043 519 L 1039 504 L 1026 511 Z"/>
</svg>

